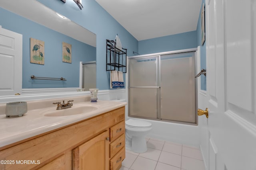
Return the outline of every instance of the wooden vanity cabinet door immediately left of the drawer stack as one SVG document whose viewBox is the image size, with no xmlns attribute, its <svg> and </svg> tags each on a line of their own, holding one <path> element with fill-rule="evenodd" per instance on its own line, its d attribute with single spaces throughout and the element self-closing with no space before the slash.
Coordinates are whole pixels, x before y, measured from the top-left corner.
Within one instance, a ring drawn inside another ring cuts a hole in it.
<svg viewBox="0 0 256 170">
<path fill-rule="evenodd" d="M 109 169 L 109 130 L 73 150 L 73 170 Z"/>
</svg>

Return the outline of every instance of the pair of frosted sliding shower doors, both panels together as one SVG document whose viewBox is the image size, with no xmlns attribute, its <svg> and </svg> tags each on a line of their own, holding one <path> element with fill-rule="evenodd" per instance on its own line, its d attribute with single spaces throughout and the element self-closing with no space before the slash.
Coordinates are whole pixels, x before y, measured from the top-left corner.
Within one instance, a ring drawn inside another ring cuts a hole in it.
<svg viewBox="0 0 256 170">
<path fill-rule="evenodd" d="M 129 116 L 196 123 L 194 52 L 129 59 Z"/>
</svg>

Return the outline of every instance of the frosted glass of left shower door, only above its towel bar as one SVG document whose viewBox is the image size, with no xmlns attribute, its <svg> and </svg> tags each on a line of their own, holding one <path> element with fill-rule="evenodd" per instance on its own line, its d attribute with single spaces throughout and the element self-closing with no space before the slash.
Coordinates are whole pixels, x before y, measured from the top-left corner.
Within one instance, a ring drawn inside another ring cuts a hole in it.
<svg viewBox="0 0 256 170">
<path fill-rule="evenodd" d="M 158 58 L 130 59 L 130 87 L 158 86 Z"/>
</svg>

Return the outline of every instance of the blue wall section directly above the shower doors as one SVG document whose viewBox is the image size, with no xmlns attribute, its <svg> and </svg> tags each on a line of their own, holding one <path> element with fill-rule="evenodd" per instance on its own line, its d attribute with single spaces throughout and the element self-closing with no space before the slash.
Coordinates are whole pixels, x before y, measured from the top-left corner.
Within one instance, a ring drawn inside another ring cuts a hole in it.
<svg viewBox="0 0 256 170">
<path fill-rule="evenodd" d="M 175 35 L 139 41 L 139 54 L 160 53 L 197 47 L 197 32 L 190 31 Z"/>
</svg>

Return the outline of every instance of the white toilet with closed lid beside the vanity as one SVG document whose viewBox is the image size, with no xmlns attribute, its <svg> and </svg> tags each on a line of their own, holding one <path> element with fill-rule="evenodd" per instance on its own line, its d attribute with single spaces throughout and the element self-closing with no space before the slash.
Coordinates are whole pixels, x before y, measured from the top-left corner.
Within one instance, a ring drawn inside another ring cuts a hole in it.
<svg viewBox="0 0 256 170">
<path fill-rule="evenodd" d="M 136 153 L 144 153 L 148 150 L 145 136 L 152 129 L 151 123 L 138 119 L 125 121 L 126 149 Z"/>
</svg>

